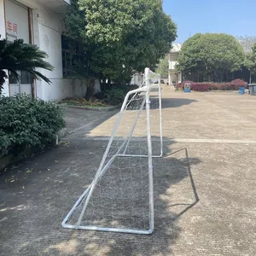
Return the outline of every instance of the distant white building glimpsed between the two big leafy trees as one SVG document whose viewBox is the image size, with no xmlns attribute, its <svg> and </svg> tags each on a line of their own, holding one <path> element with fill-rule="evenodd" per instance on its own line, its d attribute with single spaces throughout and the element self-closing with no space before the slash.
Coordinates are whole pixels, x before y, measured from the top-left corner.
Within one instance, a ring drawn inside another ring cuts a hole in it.
<svg viewBox="0 0 256 256">
<path fill-rule="evenodd" d="M 169 54 L 169 84 L 176 85 L 182 82 L 182 73 L 177 72 L 175 66 L 177 64 L 177 57 L 181 50 L 182 44 L 172 44 L 172 49 Z"/>
</svg>

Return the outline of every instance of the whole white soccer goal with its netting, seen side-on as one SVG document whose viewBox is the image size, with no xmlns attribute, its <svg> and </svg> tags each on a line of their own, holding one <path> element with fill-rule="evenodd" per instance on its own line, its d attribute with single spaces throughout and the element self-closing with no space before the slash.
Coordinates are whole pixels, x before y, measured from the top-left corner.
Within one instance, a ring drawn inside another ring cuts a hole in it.
<svg viewBox="0 0 256 256">
<path fill-rule="evenodd" d="M 62 227 L 151 234 L 153 160 L 163 154 L 160 75 L 145 69 L 143 84 L 125 96 L 90 186 Z"/>
</svg>

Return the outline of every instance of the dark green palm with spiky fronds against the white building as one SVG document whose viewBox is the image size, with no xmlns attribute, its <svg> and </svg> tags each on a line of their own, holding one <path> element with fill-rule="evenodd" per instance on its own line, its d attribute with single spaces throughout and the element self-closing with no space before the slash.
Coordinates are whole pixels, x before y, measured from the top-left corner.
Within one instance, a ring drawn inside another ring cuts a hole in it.
<svg viewBox="0 0 256 256">
<path fill-rule="evenodd" d="M 49 62 L 44 61 L 48 55 L 38 48 L 37 45 L 24 44 L 22 39 L 8 42 L 6 39 L 0 40 L 0 95 L 3 90 L 5 79 L 8 78 L 5 70 L 13 73 L 19 79 L 19 71 L 26 71 L 34 79 L 43 79 L 50 84 L 50 80 L 36 68 L 44 68 L 49 71 L 54 69 Z"/>
</svg>

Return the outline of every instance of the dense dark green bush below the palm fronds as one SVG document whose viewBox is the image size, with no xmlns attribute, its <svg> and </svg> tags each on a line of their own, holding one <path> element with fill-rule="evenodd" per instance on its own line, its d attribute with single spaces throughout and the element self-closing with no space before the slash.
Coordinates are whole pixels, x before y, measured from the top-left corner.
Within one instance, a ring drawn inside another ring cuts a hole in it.
<svg viewBox="0 0 256 256">
<path fill-rule="evenodd" d="M 61 108 L 30 96 L 0 97 L 0 157 L 44 148 L 64 127 Z"/>
</svg>

